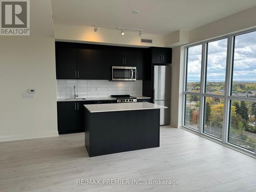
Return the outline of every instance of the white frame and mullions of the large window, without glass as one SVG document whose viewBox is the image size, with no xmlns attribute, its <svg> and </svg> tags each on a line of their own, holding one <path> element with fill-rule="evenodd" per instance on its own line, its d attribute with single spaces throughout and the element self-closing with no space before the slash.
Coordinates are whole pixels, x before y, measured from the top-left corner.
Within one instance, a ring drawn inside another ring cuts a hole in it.
<svg viewBox="0 0 256 192">
<path fill-rule="evenodd" d="M 234 145 L 228 142 L 228 135 L 229 135 L 229 123 L 230 123 L 230 110 L 231 110 L 231 100 L 242 100 L 248 102 L 256 102 L 256 98 L 247 98 L 247 97 L 240 97 L 240 96 L 232 96 L 232 80 L 233 80 L 233 61 L 234 61 L 234 40 L 237 35 L 246 34 L 250 32 L 254 32 L 256 29 L 245 30 L 243 32 L 231 33 L 228 35 L 223 35 L 217 38 L 211 38 L 208 40 L 197 42 L 196 44 L 188 44 L 184 46 L 184 74 L 183 74 L 183 89 L 182 89 L 182 127 L 188 131 L 196 133 L 200 136 L 203 136 L 207 139 L 214 140 L 219 142 L 223 145 L 233 148 L 234 150 L 240 151 L 245 154 L 252 155 L 256 157 L 256 150 L 255 152 L 251 152 L 242 148 L 240 146 Z M 206 73 L 207 73 L 207 48 L 208 42 L 221 40 L 227 38 L 227 55 L 226 55 L 226 74 L 225 74 L 225 91 L 224 95 L 217 95 L 217 94 L 209 94 L 206 93 Z M 189 47 L 194 47 L 197 45 L 202 45 L 202 57 L 201 57 L 201 84 L 200 84 L 200 92 L 194 93 L 186 91 L 186 83 L 187 83 L 187 53 Z M 185 95 L 195 95 L 200 97 L 200 121 L 199 121 L 199 129 L 195 130 L 191 127 L 185 125 Z M 223 111 L 223 128 L 222 128 L 222 139 L 218 139 L 216 137 L 207 135 L 203 133 L 203 126 L 204 126 L 204 109 L 205 109 L 205 98 L 206 97 L 217 97 L 224 99 L 224 111 Z"/>
</svg>

